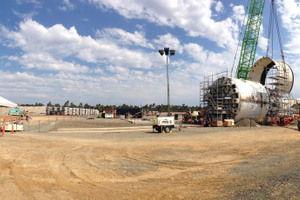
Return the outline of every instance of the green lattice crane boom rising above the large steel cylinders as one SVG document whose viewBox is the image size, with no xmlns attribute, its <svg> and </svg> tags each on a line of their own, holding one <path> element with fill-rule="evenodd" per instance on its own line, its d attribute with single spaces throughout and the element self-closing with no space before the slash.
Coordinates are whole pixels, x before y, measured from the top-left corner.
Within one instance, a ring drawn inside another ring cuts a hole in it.
<svg viewBox="0 0 300 200">
<path fill-rule="evenodd" d="M 237 67 L 237 78 L 248 79 L 250 69 L 253 65 L 261 19 L 264 10 L 265 0 L 249 0 L 250 7 L 245 28 L 239 64 Z"/>
</svg>

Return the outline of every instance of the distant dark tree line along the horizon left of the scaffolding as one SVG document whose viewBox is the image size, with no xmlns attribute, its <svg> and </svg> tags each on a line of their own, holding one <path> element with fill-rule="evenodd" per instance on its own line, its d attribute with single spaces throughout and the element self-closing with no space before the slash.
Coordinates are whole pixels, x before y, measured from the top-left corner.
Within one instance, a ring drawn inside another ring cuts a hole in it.
<svg viewBox="0 0 300 200">
<path fill-rule="evenodd" d="M 36 102 L 35 104 L 21 104 L 20 106 L 44 106 L 43 103 Z M 51 101 L 46 104 L 48 107 L 70 107 L 70 108 L 89 108 L 89 109 L 97 109 L 100 112 L 104 110 L 111 110 L 111 109 L 132 109 L 132 108 L 141 108 L 145 112 L 149 111 L 158 111 L 158 112 L 167 112 L 168 105 L 164 104 L 158 104 L 155 103 L 152 104 L 146 104 L 144 106 L 136 106 L 136 105 L 102 105 L 102 104 L 96 104 L 96 105 L 89 105 L 88 103 L 79 103 L 78 105 L 74 104 L 73 102 L 70 102 L 69 100 L 66 101 L 64 104 L 60 105 L 59 103 L 53 104 Z M 182 105 L 170 105 L 170 110 L 172 112 L 189 112 L 194 110 L 201 110 L 201 107 L 199 106 L 188 106 L 185 104 Z"/>
</svg>

